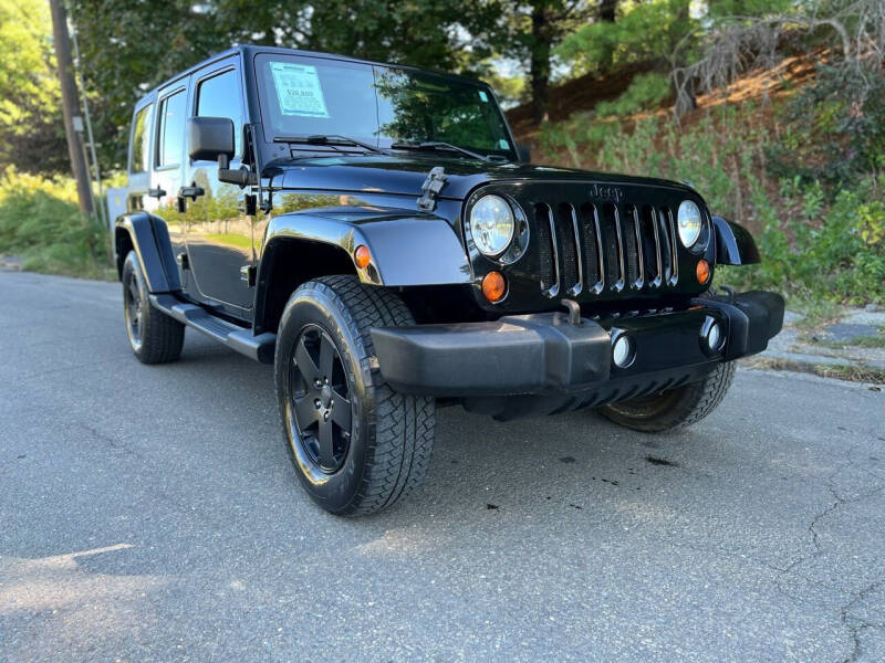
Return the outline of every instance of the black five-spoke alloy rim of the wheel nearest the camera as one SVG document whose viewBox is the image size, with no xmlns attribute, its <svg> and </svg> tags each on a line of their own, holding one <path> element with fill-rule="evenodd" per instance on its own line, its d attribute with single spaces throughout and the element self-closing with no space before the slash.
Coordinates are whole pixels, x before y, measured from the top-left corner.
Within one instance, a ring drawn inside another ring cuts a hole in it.
<svg viewBox="0 0 885 663">
<path fill-rule="evenodd" d="M 351 444 L 352 390 L 332 338 L 317 325 L 301 330 L 289 367 L 292 440 L 320 470 L 341 469 Z"/>
</svg>

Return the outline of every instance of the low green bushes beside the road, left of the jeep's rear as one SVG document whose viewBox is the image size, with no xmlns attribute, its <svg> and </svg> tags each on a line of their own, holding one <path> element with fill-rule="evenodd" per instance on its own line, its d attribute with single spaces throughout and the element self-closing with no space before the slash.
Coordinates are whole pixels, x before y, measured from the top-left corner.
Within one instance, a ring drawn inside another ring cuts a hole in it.
<svg viewBox="0 0 885 663">
<path fill-rule="evenodd" d="M 107 229 L 83 217 L 70 178 L 43 178 L 7 168 L 0 177 L 0 253 L 22 266 L 91 278 L 113 274 Z"/>
</svg>

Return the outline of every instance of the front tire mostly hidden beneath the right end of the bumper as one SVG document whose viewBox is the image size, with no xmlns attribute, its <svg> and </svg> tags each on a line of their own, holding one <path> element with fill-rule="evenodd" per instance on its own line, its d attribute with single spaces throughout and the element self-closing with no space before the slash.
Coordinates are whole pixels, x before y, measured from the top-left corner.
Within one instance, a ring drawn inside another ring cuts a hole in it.
<svg viewBox="0 0 885 663">
<path fill-rule="evenodd" d="M 646 433 L 684 429 L 712 412 L 731 386 L 735 362 L 719 364 L 699 382 L 598 408 L 598 412 L 623 427 Z"/>
</svg>

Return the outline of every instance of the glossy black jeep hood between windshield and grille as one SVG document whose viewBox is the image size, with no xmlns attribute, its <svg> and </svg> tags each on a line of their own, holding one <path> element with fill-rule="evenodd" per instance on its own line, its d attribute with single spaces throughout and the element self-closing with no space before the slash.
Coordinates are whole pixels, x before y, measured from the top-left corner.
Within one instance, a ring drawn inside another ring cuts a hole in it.
<svg viewBox="0 0 885 663">
<path fill-rule="evenodd" d="M 678 182 L 610 172 L 593 172 L 531 164 L 506 164 L 458 158 L 445 152 L 387 155 L 336 155 L 277 160 L 266 170 L 273 187 L 325 191 L 362 191 L 420 196 L 430 169 L 441 166 L 446 185 L 439 198 L 464 200 L 480 185 L 512 181 L 581 181 L 600 185 L 666 187 L 697 194 Z"/>
</svg>

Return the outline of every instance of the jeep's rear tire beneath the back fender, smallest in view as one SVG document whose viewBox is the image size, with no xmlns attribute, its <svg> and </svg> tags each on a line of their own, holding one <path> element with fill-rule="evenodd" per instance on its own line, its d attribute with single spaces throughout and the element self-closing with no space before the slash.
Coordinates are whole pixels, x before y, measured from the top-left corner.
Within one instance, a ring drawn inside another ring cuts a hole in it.
<svg viewBox="0 0 885 663">
<path fill-rule="evenodd" d="M 135 357 L 142 364 L 166 364 L 178 359 L 185 343 L 185 326 L 150 305 L 147 283 L 135 251 L 129 251 L 126 255 L 121 281 L 126 336 Z M 139 304 L 137 332 L 133 325 L 131 307 L 136 297 Z"/>
</svg>

